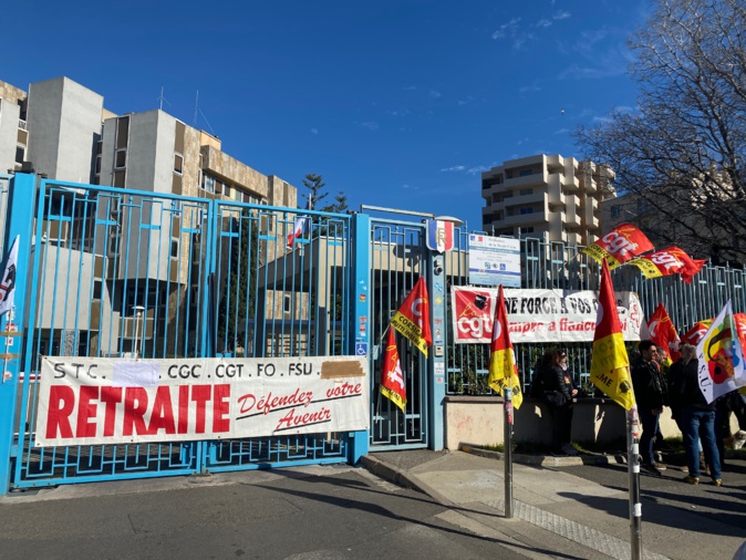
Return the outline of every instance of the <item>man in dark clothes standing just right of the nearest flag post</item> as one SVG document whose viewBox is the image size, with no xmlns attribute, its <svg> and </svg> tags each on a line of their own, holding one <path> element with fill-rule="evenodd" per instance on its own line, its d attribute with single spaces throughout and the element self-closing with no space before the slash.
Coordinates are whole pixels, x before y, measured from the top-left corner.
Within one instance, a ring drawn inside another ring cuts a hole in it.
<svg viewBox="0 0 746 560">
<path fill-rule="evenodd" d="M 638 414 L 642 423 L 640 437 L 640 455 L 642 465 L 649 470 L 660 474 L 665 465 L 655 460 L 653 438 L 657 432 L 659 421 L 666 404 L 665 386 L 661 372 L 655 363 L 657 349 L 650 340 L 643 340 L 638 346 L 640 357 L 632 364 L 632 386 L 638 403 Z"/>
</svg>

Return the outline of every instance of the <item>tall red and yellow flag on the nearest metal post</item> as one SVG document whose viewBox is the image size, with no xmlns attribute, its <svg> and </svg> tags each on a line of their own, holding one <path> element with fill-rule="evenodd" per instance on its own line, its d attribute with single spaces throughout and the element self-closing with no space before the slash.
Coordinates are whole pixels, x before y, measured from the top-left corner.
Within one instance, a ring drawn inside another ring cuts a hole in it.
<svg viewBox="0 0 746 560">
<path fill-rule="evenodd" d="M 634 392 L 630 381 L 630 359 L 624 348 L 622 325 L 617 311 L 617 297 L 605 260 L 601 267 L 599 310 L 595 315 L 593 355 L 591 356 L 591 383 L 624 409 L 629 411 L 634 406 Z"/>
</svg>

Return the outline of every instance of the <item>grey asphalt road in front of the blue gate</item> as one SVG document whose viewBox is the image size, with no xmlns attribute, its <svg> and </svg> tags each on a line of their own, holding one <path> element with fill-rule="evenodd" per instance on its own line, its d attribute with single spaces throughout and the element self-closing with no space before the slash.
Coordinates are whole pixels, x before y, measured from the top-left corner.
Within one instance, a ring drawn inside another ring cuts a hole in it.
<svg viewBox="0 0 746 560">
<path fill-rule="evenodd" d="M 12 496 L 0 502 L 0 557 L 522 558 L 445 522 L 445 508 L 427 496 L 362 469 L 229 476 L 220 485 L 159 481 L 157 490 L 82 485 L 64 499 Z"/>
</svg>

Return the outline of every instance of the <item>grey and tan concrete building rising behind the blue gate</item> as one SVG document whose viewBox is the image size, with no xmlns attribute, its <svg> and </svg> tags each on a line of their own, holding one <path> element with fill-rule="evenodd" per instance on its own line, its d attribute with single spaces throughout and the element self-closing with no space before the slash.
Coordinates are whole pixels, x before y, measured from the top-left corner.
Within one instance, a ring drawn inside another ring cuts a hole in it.
<svg viewBox="0 0 746 560">
<path fill-rule="evenodd" d="M 44 267 L 55 270 L 40 279 L 41 354 L 71 355 L 75 345 L 94 353 L 104 340 L 128 339 L 134 346 L 137 336 L 147 344 L 167 331 L 185 338 L 196 330 L 198 315 L 190 311 L 197 301 L 187 294 L 200 283 L 205 246 L 195 232 L 203 216 L 178 197 L 297 206 L 296 187 L 225 154 L 217 137 L 159 110 L 116 115 L 102 95 L 68 77 L 33 83 L 28 95 L 0 82 L 0 163 L 3 173 L 23 165 L 61 182 L 176 195 L 170 204 L 141 199 L 127 208 L 115 197 L 105 205 L 101 198 L 72 204 L 70 189 L 50 197 L 44 236 L 34 243 L 44 251 Z M 127 238 L 138 242 L 125 248 Z M 63 258 L 58 248 L 74 255 Z M 267 243 L 263 250 L 273 252 Z M 69 278 L 68 286 L 56 286 L 55 277 Z M 61 290 L 72 297 L 80 286 L 91 287 L 92 297 L 81 300 L 85 310 L 52 308 L 54 298 L 64 298 Z"/>
</svg>

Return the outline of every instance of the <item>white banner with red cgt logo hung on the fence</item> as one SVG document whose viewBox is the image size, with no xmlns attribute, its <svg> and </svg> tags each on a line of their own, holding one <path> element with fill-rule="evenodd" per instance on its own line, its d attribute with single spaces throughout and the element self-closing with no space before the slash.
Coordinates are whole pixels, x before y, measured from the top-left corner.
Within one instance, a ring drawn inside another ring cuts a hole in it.
<svg viewBox="0 0 746 560">
<path fill-rule="evenodd" d="M 452 287 L 454 341 L 489 343 L 497 290 Z M 617 292 L 625 341 L 640 340 L 642 305 L 634 292 Z M 506 289 L 510 340 L 521 342 L 592 342 L 598 292 L 591 290 Z"/>
</svg>

